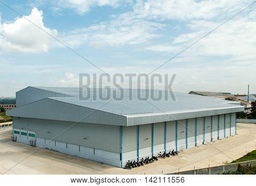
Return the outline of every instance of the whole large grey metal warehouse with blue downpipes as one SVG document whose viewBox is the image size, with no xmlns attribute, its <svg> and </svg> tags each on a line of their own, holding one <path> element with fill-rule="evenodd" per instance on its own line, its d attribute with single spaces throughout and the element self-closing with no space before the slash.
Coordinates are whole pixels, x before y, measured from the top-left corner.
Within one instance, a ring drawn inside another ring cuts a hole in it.
<svg viewBox="0 0 256 186">
<path fill-rule="evenodd" d="M 98 98 L 99 92 L 90 94 Z M 13 116 L 17 142 L 32 140 L 37 147 L 124 167 L 127 160 L 232 136 L 236 113 L 243 111 L 211 97 L 175 93 L 176 101 L 143 101 L 137 93 L 125 90 L 121 101 L 83 101 L 78 88 L 28 86 L 16 93 L 17 107 L 7 114 Z"/>
</svg>

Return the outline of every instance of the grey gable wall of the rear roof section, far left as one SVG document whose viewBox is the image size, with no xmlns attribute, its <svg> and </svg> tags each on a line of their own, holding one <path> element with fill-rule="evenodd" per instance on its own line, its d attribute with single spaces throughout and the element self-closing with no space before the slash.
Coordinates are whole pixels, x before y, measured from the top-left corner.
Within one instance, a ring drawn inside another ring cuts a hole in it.
<svg viewBox="0 0 256 186">
<path fill-rule="evenodd" d="M 47 97 L 72 97 L 65 94 L 50 92 L 28 86 L 26 89 L 16 92 L 16 106 L 30 104 L 31 102 L 42 100 Z"/>
</svg>

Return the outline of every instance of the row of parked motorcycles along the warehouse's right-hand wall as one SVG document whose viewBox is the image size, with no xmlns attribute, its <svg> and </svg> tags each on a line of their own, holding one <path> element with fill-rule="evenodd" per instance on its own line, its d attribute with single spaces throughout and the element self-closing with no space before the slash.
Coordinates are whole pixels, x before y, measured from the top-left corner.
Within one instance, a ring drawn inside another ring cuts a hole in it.
<svg viewBox="0 0 256 186">
<path fill-rule="evenodd" d="M 158 156 L 152 156 L 152 158 L 149 158 L 149 156 L 147 156 L 147 158 L 145 158 L 145 159 L 142 158 L 141 161 L 139 161 L 139 160 L 137 160 L 137 161 L 135 161 L 135 160 L 133 160 L 133 161 L 128 160 L 128 162 L 125 165 L 125 168 L 130 170 L 131 168 L 144 166 L 144 164 L 154 163 L 155 161 L 158 161 L 158 158 L 165 159 L 166 157 L 176 156 L 178 154 L 179 154 L 178 151 L 172 150 L 172 151 L 170 151 L 168 153 L 163 152 L 163 154 L 161 154 L 161 152 L 160 152 L 158 154 Z"/>
</svg>

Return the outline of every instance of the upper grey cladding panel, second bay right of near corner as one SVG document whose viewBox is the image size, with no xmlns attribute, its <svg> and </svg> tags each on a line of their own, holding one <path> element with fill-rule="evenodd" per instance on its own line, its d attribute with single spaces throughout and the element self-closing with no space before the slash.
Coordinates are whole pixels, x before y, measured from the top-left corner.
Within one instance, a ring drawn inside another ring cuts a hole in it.
<svg viewBox="0 0 256 186">
<path fill-rule="evenodd" d="M 139 148 L 152 146 L 152 124 L 139 126 Z"/>
</svg>

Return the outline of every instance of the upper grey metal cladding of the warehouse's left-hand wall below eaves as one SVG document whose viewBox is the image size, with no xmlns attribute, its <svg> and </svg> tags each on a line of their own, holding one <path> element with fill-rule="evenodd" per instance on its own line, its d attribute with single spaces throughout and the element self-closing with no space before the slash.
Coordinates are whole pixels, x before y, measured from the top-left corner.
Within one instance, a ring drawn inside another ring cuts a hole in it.
<svg viewBox="0 0 256 186">
<path fill-rule="evenodd" d="M 77 144 L 110 152 L 121 152 L 119 126 L 74 123 L 46 119 L 14 118 L 13 127 L 35 131 L 36 137 Z"/>
</svg>

